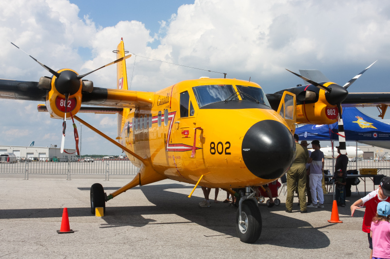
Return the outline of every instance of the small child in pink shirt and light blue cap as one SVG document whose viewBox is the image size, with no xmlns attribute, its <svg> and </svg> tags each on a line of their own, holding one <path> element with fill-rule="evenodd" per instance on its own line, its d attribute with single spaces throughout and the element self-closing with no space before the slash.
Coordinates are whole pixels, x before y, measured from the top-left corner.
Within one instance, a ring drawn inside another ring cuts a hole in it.
<svg viewBox="0 0 390 259">
<path fill-rule="evenodd" d="M 390 203 L 380 202 L 371 222 L 372 259 L 390 258 Z"/>
</svg>

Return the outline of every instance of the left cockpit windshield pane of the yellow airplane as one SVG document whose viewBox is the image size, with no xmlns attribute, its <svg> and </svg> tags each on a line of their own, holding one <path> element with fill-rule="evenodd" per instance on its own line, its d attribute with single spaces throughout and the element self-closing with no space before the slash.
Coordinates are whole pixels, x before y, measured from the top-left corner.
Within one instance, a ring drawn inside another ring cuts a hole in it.
<svg viewBox="0 0 390 259">
<path fill-rule="evenodd" d="M 195 86 L 193 90 L 199 108 L 206 104 L 225 101 L 229 97 L 229 100 L 238 100 L 232 85 Z"/>
</svg>

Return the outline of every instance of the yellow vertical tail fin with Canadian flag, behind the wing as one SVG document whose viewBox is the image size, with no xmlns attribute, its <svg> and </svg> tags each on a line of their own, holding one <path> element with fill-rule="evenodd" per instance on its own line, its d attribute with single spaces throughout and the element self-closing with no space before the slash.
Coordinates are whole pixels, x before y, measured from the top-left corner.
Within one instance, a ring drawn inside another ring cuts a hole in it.
<svg viewBox="0 0 390 259">
<path fill-rule="evenodd" d="M 125 48 L 123 44 L 123 38 L 120 39 L 120 43 L 117 46 L 117 59 L 125 56 Z M 127 71 L 126 60 L 122 60 L 117 63 L 117 89 L 128 90 L 127 87 Z M 118 113 L 118 137 L 122 131 L 123 125 L 130 109 L 124 108 L 122 113 Z"/>
</svg>

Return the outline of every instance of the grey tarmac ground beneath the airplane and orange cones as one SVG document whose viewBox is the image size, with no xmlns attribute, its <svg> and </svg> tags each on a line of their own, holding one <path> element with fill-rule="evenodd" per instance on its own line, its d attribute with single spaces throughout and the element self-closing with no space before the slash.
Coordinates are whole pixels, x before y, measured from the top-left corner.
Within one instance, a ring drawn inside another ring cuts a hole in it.
<svg viewBox="0 0 390 259">
<path fill-rule="evenodd" d="M 199 207 L 198 187 L 172 180 L 136 187 L 106 204 L 104 217 L 90 212 L 90 187 L 101 183 L 107 194 L 130 182 L 134 175 L 72 176 L 0 175 L 0 258 L 364 258 L 370 256 L 367 234 L 362 232 L 364 208 L 351 217 L 351 204 L 363 197 L 352 192 L 347 207 L 338 207 L 343 223 L 331 219 L 332 195 L 325 208 L 293 213 L 281 204 L 260 204 L 260 239 L 240 242 L 235 230 L 236 208 L 222 201 Z M 372 184 L 367 184 L 373 190 Z M 352 190 L 355 190 L 352 186 Z M 363 190 L 363 192 L 362 192 Z M 214 199 L 214 190 L 210 198 Z M 63 208 L 68 208 L 71 234 L 58 234 Z"/>
</svg>

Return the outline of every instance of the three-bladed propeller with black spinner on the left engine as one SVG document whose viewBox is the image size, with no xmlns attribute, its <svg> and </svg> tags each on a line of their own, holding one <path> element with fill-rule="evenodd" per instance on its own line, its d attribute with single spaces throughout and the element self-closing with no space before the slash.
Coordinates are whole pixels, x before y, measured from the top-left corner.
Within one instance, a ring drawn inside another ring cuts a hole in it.
<svg viewBox="0 0 390 259">
<path fill-rule="evenodd" d="M 10 41 L 11 42 L 11 41 Z M 11 42 L 12 45 L 14 45 L 15 47 L 17 47 L 18 49 L 20 49 L 18 46 L 16 46 L 13 42 Z M 108 67 L 108 66 L 111 66 L 113 64 L 116 64 L 118 62 L 121 62 L 122 60 L 125 60 L 129 57 L 131 57 L 131 55 L 127 55 L 127 56 L 124 56 L 124 57 L 121 57 L 111 63 L 108 63 L 107 65 L 104 65 L 98 69 L 95 69 L 95 70 L 92 70 L 88 73 L 85 73 L 85 74 L 82 74 L 82 75 L 78 75 L 77 73 L 71 71 L 71 70 L 63 70 L 62 72 L 57 72 L 51 68 L 49 68 L 48 66 L 42 64 L 41 62 L 39 62 L 36 58 L 34 58 L 33 56 L 31 56 L 30 54 L 28 54 L 27 52 L 23 51 L 22 49 L 20 49 L 22 52 L 26 53 L 28 56 L 30 56 L 32 59 L 34 59 L 42 68 L 46 69 L 47 71 L 49 71 L 52 75 L 54 75 L 56 77 L 55 79 L 55 82 L 54 82 L 54 86 L 56 87 L 57 91 L 60 93 L 60 94 L 63 94 L 65 95 L 65 113 L 64 113 L 64 121 L 62 122 L 62 139 L 61 139 L 61 153 L 64 152 L 64 144 L 65 144 L 65 130 L 66 130 L 66 113 L 67 113 L 67 104 L 68 104 L 68 98 L 70 95 L 73 95 L 75 93 L 78 92 L 78 90 L 80 89 L 80 87 L 82 86 L 80 80 L 84 77 L 84 76 L 87 76 L 99 69 L 102 69 L 102 68 L 105 68 L 105 67 Z"/>
</svg>

